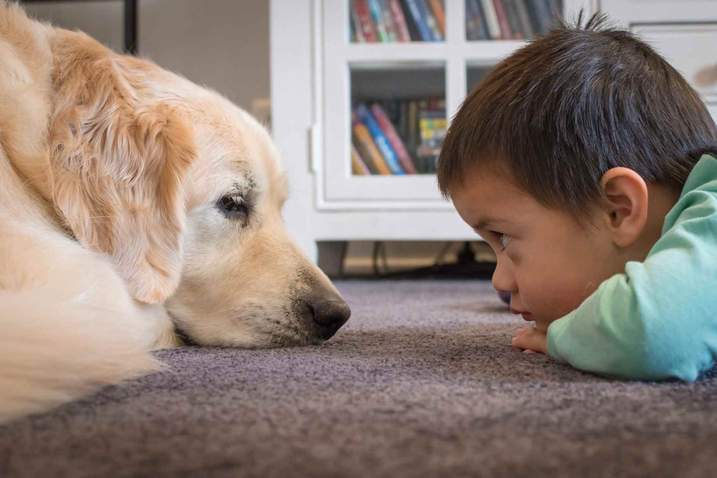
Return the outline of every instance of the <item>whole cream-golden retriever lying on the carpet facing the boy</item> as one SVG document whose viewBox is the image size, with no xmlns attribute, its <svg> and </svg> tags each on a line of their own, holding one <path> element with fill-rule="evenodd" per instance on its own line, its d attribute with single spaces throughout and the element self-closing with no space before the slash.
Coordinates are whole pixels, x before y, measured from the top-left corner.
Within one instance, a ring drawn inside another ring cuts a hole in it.
<svg viewBox="0 0 717 478">
<path fill-rule="evenodd" d="M 216 92 L 0 2 L 0 421 L 179 345 L 318 344 L 351 311 L 282 225 L 270 136 Z"/>
</svg>

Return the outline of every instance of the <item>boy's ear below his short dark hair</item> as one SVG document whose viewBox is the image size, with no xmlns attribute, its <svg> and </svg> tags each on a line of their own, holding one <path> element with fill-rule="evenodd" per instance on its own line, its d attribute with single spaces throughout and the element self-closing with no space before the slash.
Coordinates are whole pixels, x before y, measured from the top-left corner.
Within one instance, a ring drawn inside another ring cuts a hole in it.
<svg viewBox="0 0 717 478">
<path fill-rule="evenodd" d="M 600 180 L 604 223 L 617 247 L 630 247 L 647 223 L 647 183 L 629 168 L 612 168 Z"/>
</svg>

